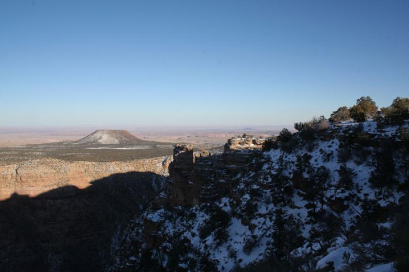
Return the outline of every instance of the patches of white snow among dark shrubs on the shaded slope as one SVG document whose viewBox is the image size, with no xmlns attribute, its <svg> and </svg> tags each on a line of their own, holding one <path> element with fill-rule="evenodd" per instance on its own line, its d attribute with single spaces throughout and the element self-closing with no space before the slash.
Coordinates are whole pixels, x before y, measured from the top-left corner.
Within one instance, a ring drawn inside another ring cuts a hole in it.
<svg viewBox="0 0 409 272">
<path fill-rule="evenodd" d="M 360 126 L 358 123 L 344 122 L 337 126 L 337 130 L 334 133 L 343 133 L 343 131 L 353 131 L 354 126 Z M 380 137 L 389 137 L 397 133 L 396 127 L 388 127 L 383 130 L 379 130 L 377 123 L 373 120 L 369 120 L 362 124 L 362 131 L 370 134 L 376 134 Z M 180 235 L 181 237 L 186 237 L 190 240 L 194 249 L 198 250 L 202 254 L 210 253 L 209 257 L 213 260 L 218 260 L 218 270 L 230 271 L 233 270 L 235 266 L 245 266 L 254 261 L 260 260 L 265 257 L 267 240 L 271 241 L 271 227 L 274 220 L 271 217 L 272 211 L 274 211 L 274 205 L 271 203 L 271 195 L 269 190 L 261 189 L 262 184 L 269 184 L 272 182 L 273 174 L 277 173 L 279 164 L 285 165 L 284 175 L 291 177 L 292 172 L 296 169 L 295 162 L 297 161 L 297 156 L 303 156 L 303 154 L 308 153 L 311 156 L 310 164 L 315 170 L 320 166 L 325 166 L 329 170 L 330 181 L 329 184 L 332 185 L 331 189 L 326 192 L 327 197 L 332 197 L 336 195 L 337 197 L 347 196 L 348 194 L 355 194 L 360 199 L 372 199 L 378 201 L 381 206 L 388 205 L 390 202 L 397 202 L 399 194 L 395 193 L 388 199 L 379 200 L 375 195 L 375 190 L 371 188 L 369 184 L 369 178 L 371 172 L 374 170 L 371 164 L 371 158 L 366 162 L 357 164 L 354 160 L 349 160 L 346 165 L 356 172 L 356 177 L 354 177 L 354 183 L 357 188 L 351 190 L 339 190 L 336 188 L 336 184 L 339 180 L 338 169 L 340 163 L 338 162 L 338 150 L 340 142 L 338 139 L 331 139 L 329 141 L 316 141 L 316 145 L 312 151 L 307 151 L 306 147 L 301 147 L 294 150 L 292 153 L 288 154 L 280 149 L 271 150 L 264 153 L 265 163 L 260 174 L 262 178 L 258 181 L 254 181 L 254 172 L 247 172 L 245 175 L 241 176 L 239 183 L 236 187 L 237 191 L 243 191 L 240 194 L 239 207 L 244 207 L 247 201 L 254 201 L 252 196 L 248 193 L 249 189 L 261 192 L 262 196 L 257 199 L 258 208 L 250 218 L 250 224 L 244 222 L 242 219 L 235 217 L 234 215 L 230 218 L 229 226 L 227 227 L 228 240 L 221 245 L 216 245 L 214 233 L 210 234 L 206 239 L 200 239 L 200 228 L 204 226 L 209 219 L 209 212 L 204 208 L 206 205 L 197 205 L 195 207 L 187 210 L 187 214 L 194 213 L 195 219 L 188 217 L 178 216 L 176 214 L 166 214 L 164 209 L 157 210 L 147 215 L 147 219 L 158 222 L 163 222 L 161 231 L 167 235 L 173 237 Z M 140 146 L 138 146 L 140 147 Z M 99 147 L 100 149 L 101 147 Z M 370 148 L 370 147 L 369 147 Z M 131 149 L 131 148 L 129 148 Z M 264 176 L 263 176 L 264 175 Z M 305 174 L 307 175 L 307 174 Z M 307 177 L 306 177 L 307 178 Z M 225 182 L 225 181 L 223 181 Z M 248 184 L 248 182 L 259 182 Z M 229 196 L 223 197 L 221 200 L 217 201 L 215 204 L 218 205 L 223 211 L 232 215 L 233 209 L 231 207 L 232 199 Z M 302 228 L 302 236 L 309 238 L 310 230 L 312 225 L 307 223 L 308 210 L 305 208 L 307 201 L 305 201 L 299 194 L 297 189 L 294 189 L 292 202 L 294 205 L 286 206 L 285 212 L 288 215 L 293 215 L 295 218 L 300 219 L 304 222 Z M 355 202 L 356 203 L 356 202 Z M 340 217 L 344 219 L 346 230 L 348 230 L 353 224 L 353 219 L 361 212 L 359 204 L 355 205 L 354 202 L 348 203 L 349 209 L 345 210 Z M 233 206 L 233 205 L 232 205 Z M 329 207 L 325 206 L 325 209 L 331 211 Z M 182 210 L 180 210 L 182 211 Z M 172 217 L 173 216 L 173 217 Z M 165 219 L 165 217 L 167 217 Z M 245 225 L 243 225 L 243 223 Z M 247 226 L 248 225 L 248 226 Z M 255 228 L 250 228 L 250 226 L 256 226 Z M 378 225 L 379 227 L 390 228 L 391 222 L 384 222 Z M 269 236 L 267 238 L 267 235 Z M 339 234 L 342 236 L 342 234 Z M 244 252 L 243 247 L 248 239 L 251 237 L 257 237 L 257 243 L 251 252 Z M 345 265 L 346 259 L 353 259 L 354 254 L 351 248 L 345 244 L 345 237 L 335 237 L 335 241 L 331 243 L 331 247 L 327 249 L 325 256 L 318 256 L 316 269 L 323 268 L 328 262 L 333 262 L 336 270 L 342 269 Z M 171 245 L 169 245 L 171 246 Z M 311 249 L 316 251 L 321 249 L 321 245 L 317 242 L 308 243 L 306 242 L 300 248 L 293 250 L 291 252 L 292 256 L 303 256 L 305 253 L 311 252 Z M 163 261 L 163 264 L 166 260 Z M 186 266 L 182 263 L 180 267 Z M 392 271 L 393 263 L 381 264 L 368 269 L 371 272 L 387 272 Z"/>
</svg>

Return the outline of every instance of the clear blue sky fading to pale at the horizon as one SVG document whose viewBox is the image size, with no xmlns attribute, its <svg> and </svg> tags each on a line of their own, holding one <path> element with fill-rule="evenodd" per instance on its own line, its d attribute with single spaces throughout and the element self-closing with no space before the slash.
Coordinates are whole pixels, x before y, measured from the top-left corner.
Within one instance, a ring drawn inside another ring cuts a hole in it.
<svg viewBox="0 0 409 272">
<path fill-rule="evenodd" d="M 409 1 L 0 1 L 0 127 L 271 126 L 409 96 Z"/>
</svg>

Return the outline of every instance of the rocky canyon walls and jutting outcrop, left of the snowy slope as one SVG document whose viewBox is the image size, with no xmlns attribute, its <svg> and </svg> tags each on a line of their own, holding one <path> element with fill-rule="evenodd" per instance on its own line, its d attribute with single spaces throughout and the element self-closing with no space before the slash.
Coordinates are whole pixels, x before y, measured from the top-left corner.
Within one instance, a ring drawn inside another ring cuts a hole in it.
<svg viewBox="0 0 409 272">
<path fill-rule="evenodd" d="M 166 184 L 173 186 L 171 206 L 209 202 L 227 192 L 235 168 L 261 147 L 261 139 L 242 138 L 213 154 L 176 144 L 173 156 L 112 162 L 41 158 L 0 166 L 0 270 L 109 270 L 129 221 Z M 219 174 L 225 183 L 209 187 L 209 177 Z M 155 244 L 155 224 L 145 224 Z"/>
</svg>

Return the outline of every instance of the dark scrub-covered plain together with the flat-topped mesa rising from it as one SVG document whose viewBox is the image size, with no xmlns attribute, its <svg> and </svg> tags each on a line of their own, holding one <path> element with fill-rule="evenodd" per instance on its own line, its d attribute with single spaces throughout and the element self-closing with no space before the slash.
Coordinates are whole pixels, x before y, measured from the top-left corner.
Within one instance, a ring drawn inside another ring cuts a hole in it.
<svg viewBox="0 0 409 272">
<path fill-rule="evenodd" d="M 0 165 L 53 158 L 64 161 L 112 162 L 172 154 L 172 143 L 141 140 L 127 131 L 98 130 L 77 141 L 0 147 Z"/>
</svg>

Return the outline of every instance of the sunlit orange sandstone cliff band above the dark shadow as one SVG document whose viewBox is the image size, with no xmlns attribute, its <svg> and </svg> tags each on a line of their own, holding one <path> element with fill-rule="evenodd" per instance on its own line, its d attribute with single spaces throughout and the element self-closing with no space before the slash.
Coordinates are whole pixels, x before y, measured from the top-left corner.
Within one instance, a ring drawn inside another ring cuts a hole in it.
<svg viewBox="0 0 409 272">
<path fill-rule="evenodd" d="M 0 200 L 8 199 L 13 193 L 33 197 L 66 185 L 83 189 L 94 180 L 131 171 L 167 176 L 171 160 L 171 157 L 125 162 L 39 159 L 0 166 Z"/>
</svg>

